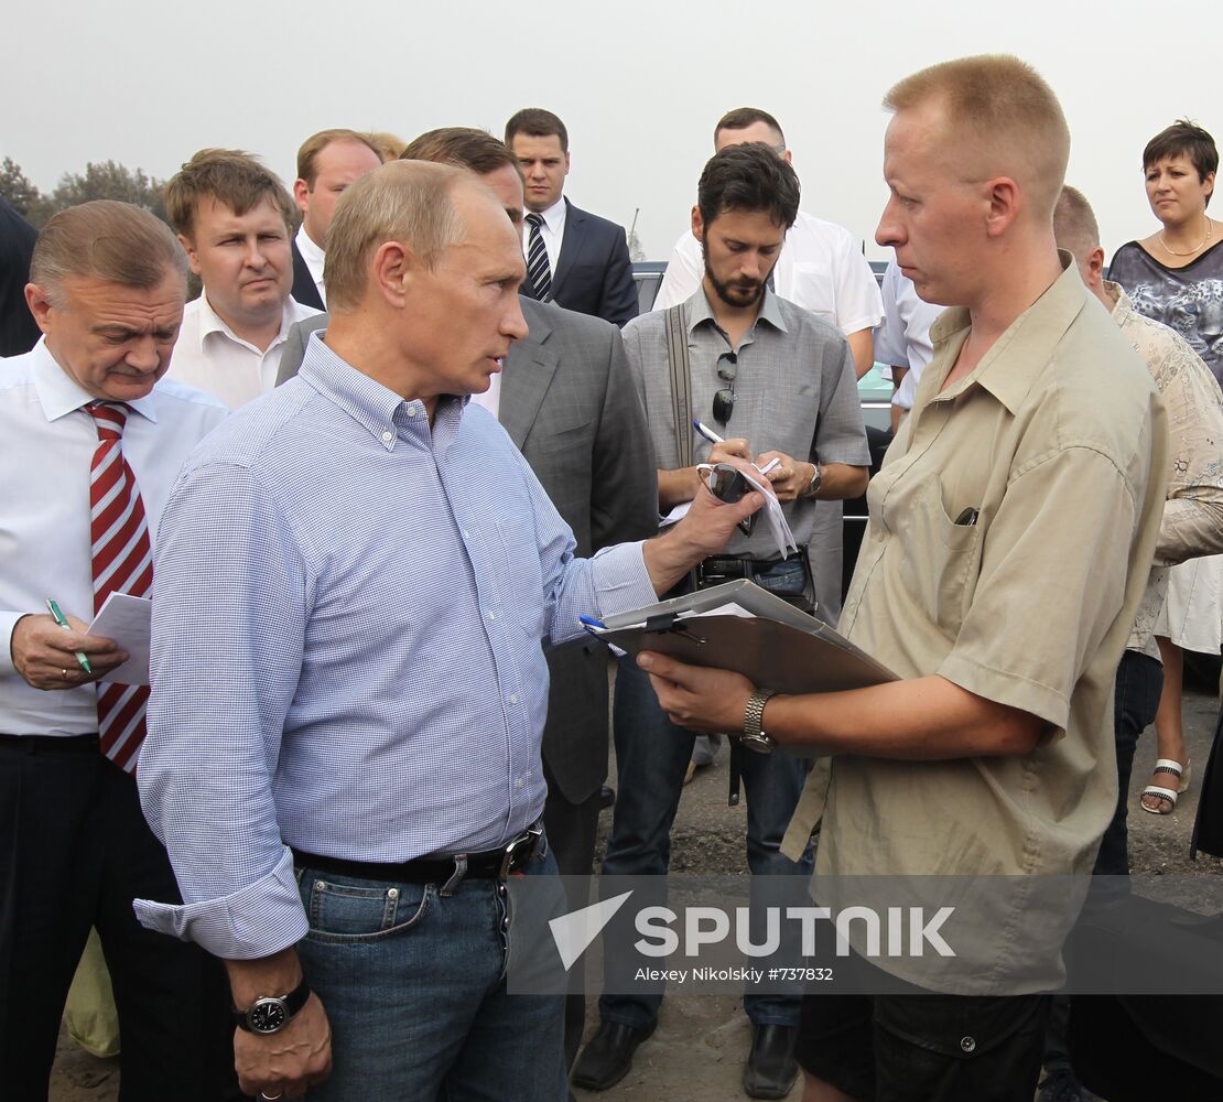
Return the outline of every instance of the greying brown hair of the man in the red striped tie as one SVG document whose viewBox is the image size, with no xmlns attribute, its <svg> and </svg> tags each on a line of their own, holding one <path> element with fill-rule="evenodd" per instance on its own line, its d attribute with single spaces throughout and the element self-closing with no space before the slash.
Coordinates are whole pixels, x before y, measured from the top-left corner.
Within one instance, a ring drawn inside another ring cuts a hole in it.
<svg viewBox="0 0 1223 1102">
<path fill-rule="evenodd" d="M 187 256 L 170 227 L 148 210 L 115 199 L 68 207 L 38 235 L 29 281 L 53 306 L 65 306 L 64 280 L 100 279 L 125 287 L 155 287 L 177 274 L 183 289 Z"/>
</svg>

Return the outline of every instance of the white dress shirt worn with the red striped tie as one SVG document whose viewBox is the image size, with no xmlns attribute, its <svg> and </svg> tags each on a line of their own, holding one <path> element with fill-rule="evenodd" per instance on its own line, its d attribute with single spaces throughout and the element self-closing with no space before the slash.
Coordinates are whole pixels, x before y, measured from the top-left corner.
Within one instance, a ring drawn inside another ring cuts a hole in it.
<svg viewBox="0 0 1223 1102">
<path fill-rule="evenodd" d="M 0 360 L 0 733 L 87 735 L 98 730 L 94 686 L 44 692 L 12 663 L 12 629 L 45 613 L 53 597 L 65 615 L 93 619 L 89 464 L 98 429 L 82 409 L 94 399 L 51 356 L 45 340 Z M 161 506 L 191 450 L 225 420 L 215 398 L 161 379 L 128 402 L 124 455 L 144 501 L 157 544 Z"/>
</svg>

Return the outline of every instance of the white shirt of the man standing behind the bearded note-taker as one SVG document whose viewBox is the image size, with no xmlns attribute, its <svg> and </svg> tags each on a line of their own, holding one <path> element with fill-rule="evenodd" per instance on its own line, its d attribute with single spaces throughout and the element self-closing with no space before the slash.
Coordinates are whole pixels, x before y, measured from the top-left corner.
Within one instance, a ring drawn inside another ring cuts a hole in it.
<svg viewBox="0 0 1223 1102">
<path fill-rule="evenodd" d="M 687 302 L 703 276 L 701 242 L 689 230 L 675 242 L 654 309 Z M 879 285 L 854 235 L 802 210 L 785 235 L 773 269 L 773 290 L 841 333 L 873 329 L 883 320 Z"/>
</svg>

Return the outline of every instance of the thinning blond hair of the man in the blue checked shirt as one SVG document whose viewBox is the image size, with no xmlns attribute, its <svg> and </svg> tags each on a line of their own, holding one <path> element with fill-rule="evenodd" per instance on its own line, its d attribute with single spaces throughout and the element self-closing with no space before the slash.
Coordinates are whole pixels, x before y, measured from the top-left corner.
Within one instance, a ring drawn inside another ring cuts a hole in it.
<svg viewBox="0 0 1223 1102">
<path fill-rule="evenodd" d="M 399 241 L 426 267 L 466 240 L 453 191 L 471 174 L 423 160 L 394 160 L 353 181 L 335 204 L 324 278 L 328 308 L 346 313 L 366 292 L 369 263 L 388 241 Z"/>
</svg>

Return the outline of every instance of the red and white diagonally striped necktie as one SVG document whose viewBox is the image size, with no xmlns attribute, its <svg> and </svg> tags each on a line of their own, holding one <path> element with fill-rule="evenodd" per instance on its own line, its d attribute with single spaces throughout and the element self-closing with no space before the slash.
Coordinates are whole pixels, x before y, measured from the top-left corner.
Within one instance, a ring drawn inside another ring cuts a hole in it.
<svg viewBox="0 0 1223 1102">
<path fill-rule="evenodd" d="M 153 547 L 136 476 L 124 457 L 128 407 L 121 402 L 86 406 L 98 427 L 89 465 L 89 537 L 93 543 L 93 610 L 111 593 L 148 597 L 153 588 Z M 144 741 L 147 685 L 98 682 L 98 736 L 102 752 L 128 773 Z"/>
</svg>

